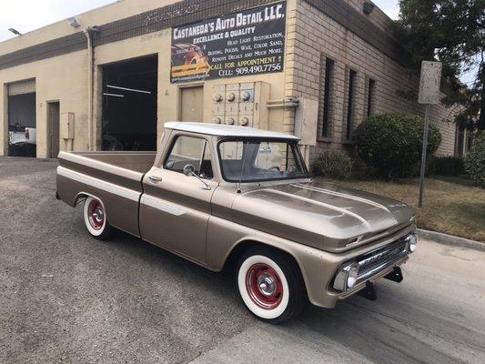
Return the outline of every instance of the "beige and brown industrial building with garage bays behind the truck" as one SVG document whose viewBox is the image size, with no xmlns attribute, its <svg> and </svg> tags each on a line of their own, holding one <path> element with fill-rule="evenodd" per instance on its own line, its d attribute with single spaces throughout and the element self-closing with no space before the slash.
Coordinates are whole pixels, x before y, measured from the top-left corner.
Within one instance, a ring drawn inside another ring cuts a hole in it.
<svg viewBox="0 0 485 364">
<path fill-rule="evenodd" d="M 372 113 L 424 114 L 419 80 L 364 0 L 122 0 L 0 43 L 0 155 L 155 150 L 169 120 L 302 137 L 307 159 L 352 147 Z M 466 133 L 434 106 L 440 155 Z M 27 139 L 28 139 L 27 137 Z"/>
</svg>

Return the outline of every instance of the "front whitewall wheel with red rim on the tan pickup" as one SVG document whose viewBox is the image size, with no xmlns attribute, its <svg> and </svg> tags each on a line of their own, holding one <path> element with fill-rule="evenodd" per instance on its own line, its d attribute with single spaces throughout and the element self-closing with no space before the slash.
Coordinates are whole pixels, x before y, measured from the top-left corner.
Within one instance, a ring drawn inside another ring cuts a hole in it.
<svg viewBox="0 0 485 364">
<path fill-rule="evenodd" d="M 269 248 L 251 248 L 237 265 L 237 289 L 258 319 L 278 324 L 293 319 L 308 302 L 298 265 Z"/>
</svg>

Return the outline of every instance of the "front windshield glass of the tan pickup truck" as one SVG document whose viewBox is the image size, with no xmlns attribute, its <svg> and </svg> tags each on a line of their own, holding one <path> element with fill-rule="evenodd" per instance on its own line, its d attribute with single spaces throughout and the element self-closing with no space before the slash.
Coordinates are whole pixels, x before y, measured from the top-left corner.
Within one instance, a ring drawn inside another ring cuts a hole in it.
<svg viewBox="0 0 485 364">
<path fill-rule="evenodd" d="M 308 177 L 297 142 L 228 140 L 219 143 L 222 175 L 229 182 Z"/>
</svg>

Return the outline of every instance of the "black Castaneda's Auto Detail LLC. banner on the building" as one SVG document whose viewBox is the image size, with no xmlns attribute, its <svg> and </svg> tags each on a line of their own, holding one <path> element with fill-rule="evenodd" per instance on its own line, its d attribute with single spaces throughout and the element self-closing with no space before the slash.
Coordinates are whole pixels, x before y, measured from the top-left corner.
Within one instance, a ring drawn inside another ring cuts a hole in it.
<svg viewBox="0 0 485 364">
<path fill-rule="evenodd" d="M 286 2 L 172 30 L 171 82 L 283 71 Z"/>
</svg>

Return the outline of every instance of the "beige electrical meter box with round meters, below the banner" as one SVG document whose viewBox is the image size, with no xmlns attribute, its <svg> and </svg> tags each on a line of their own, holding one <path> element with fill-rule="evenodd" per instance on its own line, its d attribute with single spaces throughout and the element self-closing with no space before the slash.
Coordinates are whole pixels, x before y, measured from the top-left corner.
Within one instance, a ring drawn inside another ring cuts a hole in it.
<svg viewBox="0 0 485 364">
<path fill-rule="evenodd" d="M 266 82 L 214 86 L 213 122 L 268 130 L 269 89 Z"/>
</svg>

